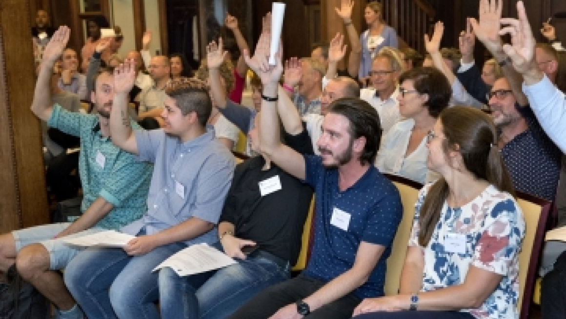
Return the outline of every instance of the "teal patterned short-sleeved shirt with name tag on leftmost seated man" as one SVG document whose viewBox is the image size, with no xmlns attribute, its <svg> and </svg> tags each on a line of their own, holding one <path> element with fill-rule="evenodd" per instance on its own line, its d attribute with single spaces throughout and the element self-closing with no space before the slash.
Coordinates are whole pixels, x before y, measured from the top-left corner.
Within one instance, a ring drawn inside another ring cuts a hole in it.
<svg viewBox="0 0 566 319">
<path fill-rule="evenodd" d="M 134 130 L 139 130 L 137 123 L 130 123 Z M 136 161 L 132 154 L 115 146 L 110 137 L 100 135 L 97 115 L 71 113 L 55 104 L 47 124 L 80 137 L 82 212 L 98 197 L 114 205 L 96 226 L 118 230 L 143 215 L 151 164 Z"/>
</svg>

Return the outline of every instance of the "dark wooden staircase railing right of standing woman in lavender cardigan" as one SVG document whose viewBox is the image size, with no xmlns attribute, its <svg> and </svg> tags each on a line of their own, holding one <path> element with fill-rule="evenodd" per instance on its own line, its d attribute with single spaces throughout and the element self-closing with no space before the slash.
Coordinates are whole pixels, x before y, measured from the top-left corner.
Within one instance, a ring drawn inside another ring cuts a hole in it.
<svg viewBox="0 0 566 319">
<path fill-rule="evenodd" d="M 424 39 L 434 23 L 435 9 L 426 0 L 381 0 L 383 18 L 397 31 L 400 40 L 425 53 Z M 400 48 L 402 47 L 400 41 Z"/>
</svg>

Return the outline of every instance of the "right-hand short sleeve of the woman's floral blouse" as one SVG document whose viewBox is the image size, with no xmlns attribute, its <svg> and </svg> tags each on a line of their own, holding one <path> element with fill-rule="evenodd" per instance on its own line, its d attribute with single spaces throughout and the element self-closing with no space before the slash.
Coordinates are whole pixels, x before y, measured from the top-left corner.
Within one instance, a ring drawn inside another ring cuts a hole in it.
<svg viewBox="0 0 566 319">
<path fill-rule="evenodd" d="M 524 235 L 525 222 L 517 203 L 512 199 L 500 201 L 484 222 L 472 265 L 496 274 L 508 274 L 521 250 Z"/>
</svg>

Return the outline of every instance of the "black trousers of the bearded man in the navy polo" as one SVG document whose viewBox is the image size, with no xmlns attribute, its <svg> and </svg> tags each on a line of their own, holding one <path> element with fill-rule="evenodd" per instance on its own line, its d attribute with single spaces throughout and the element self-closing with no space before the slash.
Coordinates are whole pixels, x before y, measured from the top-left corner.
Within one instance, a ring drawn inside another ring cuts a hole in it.
<svg viewBox="0 0 566 319">
<path fill-rule="evenodd" d="M 271 286 L 255 295 L 229 319 L 266 319 L 280 308 L 310 296 L 326 284 L 318 279 L 299 274 L 288 281 Z M 323 305 L 305 316 L 307 319 L 348 319 L 361 299 L 348 294 L 332 303 Z"/>
</svg>

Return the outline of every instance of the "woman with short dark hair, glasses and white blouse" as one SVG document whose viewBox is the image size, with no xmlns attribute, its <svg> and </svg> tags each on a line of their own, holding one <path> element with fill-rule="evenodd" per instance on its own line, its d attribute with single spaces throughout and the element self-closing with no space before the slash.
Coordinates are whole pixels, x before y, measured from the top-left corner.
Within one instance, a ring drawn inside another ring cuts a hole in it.
<svg viewBox="0 0 566 319">
<path fill-rule="evenodd" d="M 399 82 L 397 100 L 404 120 L 383 136 L 375 166 L 383 173 L 430 182 L 436 174 L 426 165 L 426 135 L 448 106 L 452 90 L 446 77 L 433 67 L 413 68 L 401 74 Z"/>
</svg>

